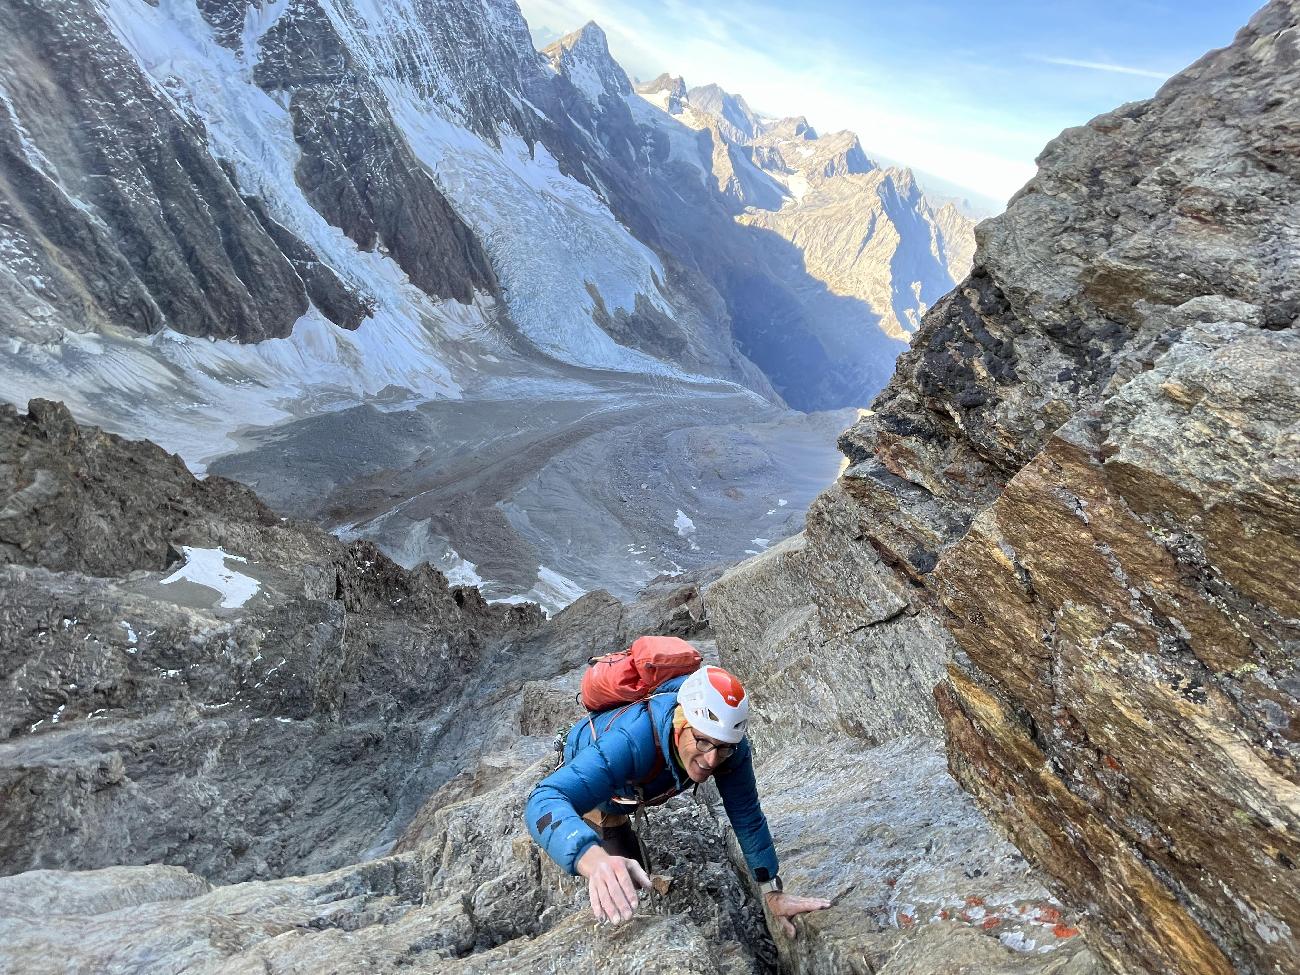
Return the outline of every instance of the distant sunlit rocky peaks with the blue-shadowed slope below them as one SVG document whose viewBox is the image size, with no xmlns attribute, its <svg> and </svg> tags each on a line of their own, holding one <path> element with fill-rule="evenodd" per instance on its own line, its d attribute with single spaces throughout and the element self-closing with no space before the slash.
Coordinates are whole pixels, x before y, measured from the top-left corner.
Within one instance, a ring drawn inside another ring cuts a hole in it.
<svg viewBox="0 0 1300 975">
<path fill-rule="evenodd" d="M 932 208 L 909 170 L 876 166 L 853 133 L 760 120 L 716 84 L 684 88 L 663 77 L 638 92 L 679 124 L 649 118 L 668 160 L 693 165 L 749 230 L 753 256 L 724 287 L 746 309 L 733 325 L 741 348 L 800 408 L 863 406 L 920 316 L 968 270 L 971 222 Z M 820 286 L 801 287 L 792 264 Z"/>
</svg>

